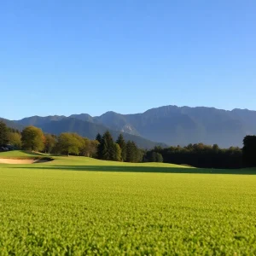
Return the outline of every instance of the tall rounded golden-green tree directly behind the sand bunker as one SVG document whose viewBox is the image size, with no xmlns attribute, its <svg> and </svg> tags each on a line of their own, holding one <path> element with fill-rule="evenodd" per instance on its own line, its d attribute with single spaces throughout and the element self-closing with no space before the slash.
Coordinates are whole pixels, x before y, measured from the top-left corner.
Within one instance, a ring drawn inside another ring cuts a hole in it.
<svg viewBox="0 0 256 256">
<path fill-rule="evenodd" d="M 21 132 L 22 148 L 40 151 L 44 149 L 44 133 L 35 126 L 27 126 Z"/>
</svg>

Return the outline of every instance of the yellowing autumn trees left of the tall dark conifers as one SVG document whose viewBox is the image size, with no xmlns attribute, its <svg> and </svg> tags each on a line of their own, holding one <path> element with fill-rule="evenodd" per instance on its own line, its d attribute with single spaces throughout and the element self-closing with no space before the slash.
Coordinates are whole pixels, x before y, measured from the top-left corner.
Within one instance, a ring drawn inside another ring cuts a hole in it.
<svg viewBox="0 0 256 256">
<path fill-rule="evenodd" d="M 96 157 L 98 142 L 80 137 L 76 133 L 64 132 L 60 136 L 45 134 L 35 126 L 27 126 L 23 131 L 18 131 L 0 122 L 0 146 L 7 145 L 16 149 L 22 148 L 48 154 L 77 154 Z"/>
</svg>

